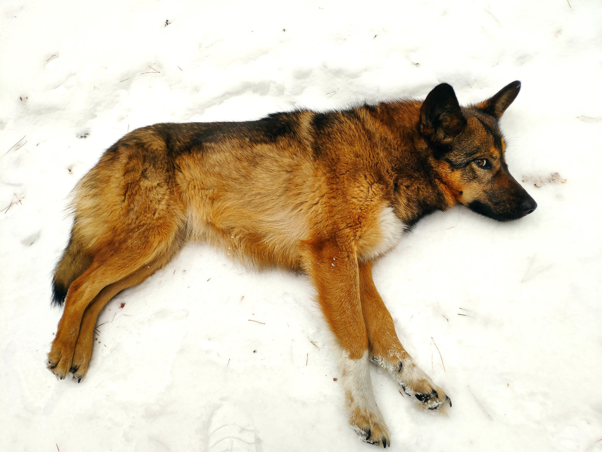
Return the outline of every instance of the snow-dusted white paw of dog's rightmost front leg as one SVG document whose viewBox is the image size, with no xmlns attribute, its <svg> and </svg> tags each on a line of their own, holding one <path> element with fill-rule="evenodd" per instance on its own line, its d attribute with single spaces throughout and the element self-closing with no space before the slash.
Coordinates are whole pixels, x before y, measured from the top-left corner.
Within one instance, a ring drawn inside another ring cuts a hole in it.
<svg viewBox="0 0 602 452">
<path fill-rule="evenodd" d="M 403 362 L 400 372 L 400 384 L 403 392 L 415 397 L 422 407 L 428 410 L 438 410 L 442 406 L 452 406 L 452 400 L 443 389 L 433 383 L 422 369 L 414 362 Z"/>
</svg>

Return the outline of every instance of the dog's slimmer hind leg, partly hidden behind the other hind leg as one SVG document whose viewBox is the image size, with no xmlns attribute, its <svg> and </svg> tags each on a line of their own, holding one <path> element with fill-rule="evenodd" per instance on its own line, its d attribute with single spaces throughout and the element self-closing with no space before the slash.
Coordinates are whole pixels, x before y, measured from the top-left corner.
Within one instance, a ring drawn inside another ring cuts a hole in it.
<svg viewBox="0 0 602 452">
<path fill-rule="evenodd" d="M 73 372 L 73 380 L 77 380 L 79 383 L 88 371 L 88 363 L 90 362 L 90 356 L 92 356 L 92 345 L 94 344 L 96 319 L 98 319 L 98 315 L 105 304 L 123 289 L 140 284 L 158 269 L 163 268 L 178 253 L 182 247 L 182 243 L 183 240 L 176 240 L 167 253 L 160 254 L 152 262 L 141 266 L 137 271 L 122 280 L 109 284 L 88 305 L 84 311 L 84 316 L 79 327 L 79 336 L 75 344 L 75 352 L 73 353 L 73 361 L 70 369 Z"/>
</svg>

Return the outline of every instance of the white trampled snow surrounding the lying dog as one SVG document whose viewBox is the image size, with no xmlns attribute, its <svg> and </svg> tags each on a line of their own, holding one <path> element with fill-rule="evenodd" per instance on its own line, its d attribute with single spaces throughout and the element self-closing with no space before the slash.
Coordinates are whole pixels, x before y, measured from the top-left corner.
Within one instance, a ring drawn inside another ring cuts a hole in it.
<svg viewBox="0 0 602 452">
<path fill-rule="evenodd" d="M 402 344 L 453 407 L 423 412 L 371 366 L 376 401 L 393 450 L 602 450 L 600 2 L 0 11 L 0 450 L 375 450 L 346 424 L 308 278 L 249 271 L 199 243 L 105 307 L 79 385 L 55 380 L 50 278 L 67 195 L 143 125 L 424 97 L 442 81 L 468 104 L 513 80 L 507 160 L 539 207 L 509 224 L 435 213 L 380 259 L 374 281 Z"/>
</svg>

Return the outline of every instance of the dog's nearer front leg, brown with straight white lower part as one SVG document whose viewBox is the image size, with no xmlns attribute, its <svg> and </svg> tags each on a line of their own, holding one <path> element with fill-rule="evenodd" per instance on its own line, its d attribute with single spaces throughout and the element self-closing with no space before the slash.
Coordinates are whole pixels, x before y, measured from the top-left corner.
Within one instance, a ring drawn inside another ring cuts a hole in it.
<svg viewBox="0 0 602 452">
<path fill-rule="evenodd" d="M 318 301 L 341 347 L 342 383 L 349 424 L 364 441 L 391 444 L 385 421 L 374 400 L 368 368 L 368 336 L 359 300 L 358 259 L 336 243 L 311 248 L 308 270 Z"/>
</svg>

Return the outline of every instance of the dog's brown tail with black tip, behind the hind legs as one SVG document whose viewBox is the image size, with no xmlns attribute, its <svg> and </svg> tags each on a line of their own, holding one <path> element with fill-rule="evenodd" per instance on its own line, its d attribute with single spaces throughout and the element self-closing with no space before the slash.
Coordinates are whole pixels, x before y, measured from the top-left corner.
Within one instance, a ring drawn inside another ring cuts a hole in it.
<svg viewBox="0 0 602 452">
<path fill-rule="evenodd" d="M 73 228 L 75 230 L 75 227 Z M 63 306 L 67 290 L 73 281 L 76 280 L 92 264 L 93 257 L 84 252 L 82 240 L 76 237 L 74 231 L 71 231 L 69 243 L 63 252 L 63 257 L 58 261 L 54 268 L 54 277 L 52 278 L 52 304 Z"/>
</svg>

